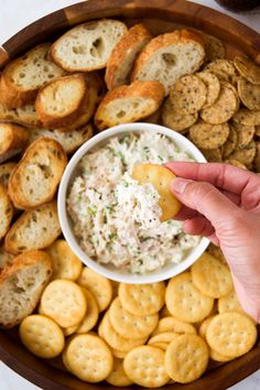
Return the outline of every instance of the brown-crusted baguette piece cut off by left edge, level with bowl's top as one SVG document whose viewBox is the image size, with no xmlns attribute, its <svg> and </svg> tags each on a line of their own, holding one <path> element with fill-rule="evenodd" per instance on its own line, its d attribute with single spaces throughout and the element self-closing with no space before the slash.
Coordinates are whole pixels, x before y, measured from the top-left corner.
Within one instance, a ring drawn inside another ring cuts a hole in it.
<svg viewBox="0 0 260 390">
<path fill-rule="evenodd" d="M 28 129 L 0 122 L 0 163 L 22 152 L 29 144 Z"/>
</svg>

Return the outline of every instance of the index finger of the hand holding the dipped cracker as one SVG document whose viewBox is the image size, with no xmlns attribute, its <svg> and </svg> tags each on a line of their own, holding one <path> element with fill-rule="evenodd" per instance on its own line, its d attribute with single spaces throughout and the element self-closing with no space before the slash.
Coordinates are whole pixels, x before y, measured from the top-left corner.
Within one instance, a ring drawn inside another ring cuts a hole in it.
<svg viewBox="0 0 260 390">
<path fill-rule="evenodd" d="M 241 194 L 248 186 L 260 185 L 254 173 L 223 163 L 195 163 L 174 161 L 165 164 L 173 173 L 184 178 L 208 182 L 215 187 Z"/>
</svg>

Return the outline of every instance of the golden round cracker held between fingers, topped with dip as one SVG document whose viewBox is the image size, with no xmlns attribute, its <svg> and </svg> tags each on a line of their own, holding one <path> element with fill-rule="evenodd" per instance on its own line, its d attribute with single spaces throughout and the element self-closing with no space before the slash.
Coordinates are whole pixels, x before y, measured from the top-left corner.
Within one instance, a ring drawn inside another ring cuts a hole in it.
<svg viewBox="0 0 260 390">
<path fill-rule="evenodd" d="M 132 170 L 132 177 L 139 184 L 151 183 L 160 195 L 162 209 L 161 221 L 173 218 L 181 208 L 181 203 L 171 192 L 171 183 L 176 177 L 167 167 L 156 164 L 138 164 Z"/>
</svg>

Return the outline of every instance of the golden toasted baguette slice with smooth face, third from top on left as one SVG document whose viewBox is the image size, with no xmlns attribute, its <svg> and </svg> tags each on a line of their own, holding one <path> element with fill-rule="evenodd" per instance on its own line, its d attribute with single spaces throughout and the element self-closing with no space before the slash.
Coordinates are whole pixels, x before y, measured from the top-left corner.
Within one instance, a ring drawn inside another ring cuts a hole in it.
<svg viewBox="0 0 260 390">
<path fill-rule="evenodd" d="M 43 127 L 63 128 L 73 123 L 88 102 L 85 76 L 75 74 L 56 78 L 42 87 L 35 109 Z"/>
</svg>

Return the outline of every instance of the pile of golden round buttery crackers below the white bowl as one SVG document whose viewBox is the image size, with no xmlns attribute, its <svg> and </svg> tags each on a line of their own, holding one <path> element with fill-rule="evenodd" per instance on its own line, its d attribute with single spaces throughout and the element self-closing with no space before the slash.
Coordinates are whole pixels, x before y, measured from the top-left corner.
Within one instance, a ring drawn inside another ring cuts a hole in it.
<svg viewBox="0 0 260 390">
<path fill-rule="evenodd" d="M 47 251 L 52 281 L 39 314 L 22 321 L 20 337 L 31 353 L 83 381 L 187 383 L 210 360 L 232 360 L 257 340 L 256 324 L 214 246 L 186 272 L 151 284 L 112 282 L 83 267 L 61 239 Z"/>
</svg>

